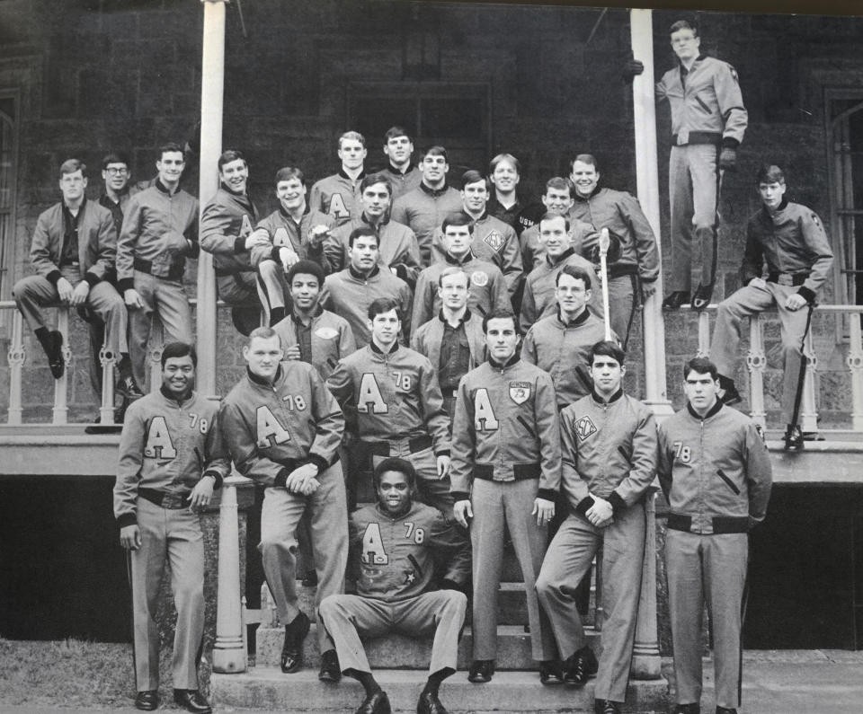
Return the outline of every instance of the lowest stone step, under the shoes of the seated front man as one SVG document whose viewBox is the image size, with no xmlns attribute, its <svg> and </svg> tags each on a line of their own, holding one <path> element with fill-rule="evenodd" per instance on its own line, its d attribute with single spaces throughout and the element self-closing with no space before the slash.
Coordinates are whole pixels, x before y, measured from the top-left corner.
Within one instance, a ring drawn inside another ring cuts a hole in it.
<svg viewBox="0 0 863 714">
<path fill-rule="evenodd" d="M 424 671 L 379 669 L 375 678 L 389 695 L 393 711 L 416 710 L 423 690 Z M 355 711 L 363 699 L 362 687 L 350 678 L 341 683 L 318 682 L 316 670 L 282 674 L 276 667 L 255 667 L 243 674 L 213 674 L 210 678 L 214 708 L 247 708 L 280 712 Z M 558 685 L 544 687 L 533 672 L 500 672 L 487 684 L 467 682 L 465 672 L 453 674 L 440 687 L 440 699 L 450 712 L 582 712 L 593 711 L 593 681 L 583 689 Z M 664 679 L 637 681 L 627 690 L 627 712 L 665 711 L 668 683 Z"/>
</svg>

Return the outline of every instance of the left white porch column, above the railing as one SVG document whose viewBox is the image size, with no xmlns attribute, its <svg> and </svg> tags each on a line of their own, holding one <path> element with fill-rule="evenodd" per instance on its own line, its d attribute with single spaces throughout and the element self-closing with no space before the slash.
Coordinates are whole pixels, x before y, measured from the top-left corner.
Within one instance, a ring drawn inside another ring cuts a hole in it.
<svg viewBox="0 0 863 714">
<path fill-rule="evenodd" d="M 200 0 L 204 4 L 204 40 L 200 60 L 200 183 L 201 213 L 218 188 L 218 155 L 222 153 L 222 106 L 225 89 L 225 4 L 227 0 Z M 216 274 L 213 256 L 198 258 L 197 389 L 216 394 Z"/>
</svg>

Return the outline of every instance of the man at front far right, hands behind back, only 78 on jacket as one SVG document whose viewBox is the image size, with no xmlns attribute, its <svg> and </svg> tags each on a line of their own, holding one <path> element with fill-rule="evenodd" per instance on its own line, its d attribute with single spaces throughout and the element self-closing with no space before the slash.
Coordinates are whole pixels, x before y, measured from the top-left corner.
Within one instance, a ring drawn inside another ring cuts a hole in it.
<svg viewBox="0 0 863 714">
<path fill-rule="evenodd" d="M 713 629 L 716 714 L 736 714 L 748 533 L 767 515 L 770 457 L 755 422 L 718 399 L 716 365 L 691 359 L 683 379 L 688 403 L 659 425 L 657 468 L 670 508 L 665 569 L 677 682 L 674 714 L 699 712 L 705 602 Z"/>
</svg>

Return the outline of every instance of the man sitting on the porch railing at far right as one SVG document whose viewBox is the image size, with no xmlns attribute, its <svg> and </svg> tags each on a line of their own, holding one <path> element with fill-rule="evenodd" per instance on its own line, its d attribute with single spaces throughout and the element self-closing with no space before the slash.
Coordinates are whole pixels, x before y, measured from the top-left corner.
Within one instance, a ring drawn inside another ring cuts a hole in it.
<svg viewBox="0 0 863 714">
<path fill-rule="evenodd" d="M 736 404 L 740 394 L 733 375 L 741 318 L 775 305 L 782 325 L 785 356 L 782 384 L 785 448 L 802 449 L 803 434 L 797 419 L 806 369 L 805 339 L 817 292 L 833 264 L 833 252 L 817 214 L 785 198 L 785 174 L 778 166 L 765 164 L 755 180 L 763 206 L 746 226 L 743 287 L 719 304 L 710 357 L 716 361 L 719 386 L 725 390 L 722 400 Z M 762 277 L 765 266 L 766 279 Z"/>
</svg>

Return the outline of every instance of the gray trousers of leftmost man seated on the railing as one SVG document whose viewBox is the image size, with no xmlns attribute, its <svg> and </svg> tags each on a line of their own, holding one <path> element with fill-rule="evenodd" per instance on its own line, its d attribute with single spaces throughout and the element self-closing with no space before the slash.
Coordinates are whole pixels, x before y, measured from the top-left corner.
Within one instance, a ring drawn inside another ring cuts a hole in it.
<svg viewBox="0 0 863 714">
<path fill-rule="evenodd" d="M 65 266 L 60 269 L 60 272 L 73 287 L 81 282 L 81 271 L 77 268 Z M 60 300 L 57 287 L 48 278 L 40 275 L 21 278 L 13 287 L 13 295 L 18 309 L 33 331 L 45 327 L 40 308 L 45 305 L 59 304 Z M 106 342 L 114 355 L 119 359 L 120 354 L 129 352 L 126 339 L 126 305 L 114 286 L 105 281 L 96 283 L 90 288 L 86 302 L 105 323 Z"/>
</svg>

